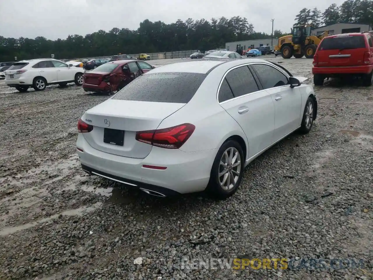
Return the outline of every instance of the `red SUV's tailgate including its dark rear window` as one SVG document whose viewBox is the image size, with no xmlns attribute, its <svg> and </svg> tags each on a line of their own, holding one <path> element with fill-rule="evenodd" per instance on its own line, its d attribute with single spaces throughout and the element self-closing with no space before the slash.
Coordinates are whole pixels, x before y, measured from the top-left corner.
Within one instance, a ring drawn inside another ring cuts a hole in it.
<svg viewBox="0 0 373 280">
<path fill-rule="evenodd" d="M 367 51 L 365 37 L 360 34 L 341 34 L 326 37 L 317 50 L 318 66 L 364 65 Z"/>
</svg>

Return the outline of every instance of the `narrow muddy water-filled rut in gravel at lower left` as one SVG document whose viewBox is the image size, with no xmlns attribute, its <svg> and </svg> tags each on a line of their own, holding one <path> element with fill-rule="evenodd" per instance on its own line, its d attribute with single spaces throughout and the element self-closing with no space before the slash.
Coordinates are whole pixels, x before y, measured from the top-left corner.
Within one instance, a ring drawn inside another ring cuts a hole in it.
<svg viewBox="0 0 373 280">
<path fill-rule="evenodd" d="M 51 221 L 51 220 L 59 217 L 60 215 L 63 215 L 63 216 L 73 216 L 73 215 L 81 216 L 81 215 L 83 215 L 87 212 L 94 211 L 96 208 L 98 208 L 101 205 L 102 205 L 101 202 L 97 202 L 92 206 L 80 207 L 80 208 L 77 208 L 77 209 L 70 209 L 70 210 L 64 211 L 62 213 L 54 214 L 54 215 L 52 215 L 48 218 L 44 218 L 44 219 L 41 219 L 39 221 L 35 221 L 35 222 L 32 222 L 32 223 L 18 225 L 18 226 L 15 226 L 15 227 L 6 227 L 6 228 L 3 228 L 2 230 L 0 230 L 0 236 L 6 236 L 8 234 L 16 233 L 19 230 L 25 230 L 27 228 L 35 227 L 35 225 Z"/>
</svg>

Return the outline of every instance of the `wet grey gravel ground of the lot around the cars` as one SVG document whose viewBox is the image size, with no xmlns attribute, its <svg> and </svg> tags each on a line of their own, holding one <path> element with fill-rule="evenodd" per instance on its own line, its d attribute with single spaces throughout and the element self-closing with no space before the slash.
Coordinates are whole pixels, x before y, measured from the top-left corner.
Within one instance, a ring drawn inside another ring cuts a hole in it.
<svg viewBox="0 0 373 280">
<path fill-rule="evenodd" d="M 265 58 L 311 77 L 310 59 Z M 216 202 L 159 199 L 85 175 L 76 123 L 107 96 L 73 84 L 27 93 L 0 84 L 0 279 L 372 279 L 372 90 L 330 81 L 315 91 L 311 133 L 264 153 L 239 191 Z M 239 255 L 362 258 L 365 268 L 180 267 L 183 256 Z"/>
</svg>

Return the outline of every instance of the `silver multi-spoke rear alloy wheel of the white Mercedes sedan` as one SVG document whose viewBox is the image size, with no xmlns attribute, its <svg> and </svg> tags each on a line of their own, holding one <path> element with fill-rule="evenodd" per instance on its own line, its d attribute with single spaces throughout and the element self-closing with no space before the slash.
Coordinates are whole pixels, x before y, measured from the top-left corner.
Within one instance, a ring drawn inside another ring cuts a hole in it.
<svg viewBox="0 0 373 280">
<path fill-rule="evenodd" d="M 223 190 L 235 187 L 241 172 L 241 155 L 234 147 L 225 150 L 219 164 L 219 184 Z"/>
</svg>

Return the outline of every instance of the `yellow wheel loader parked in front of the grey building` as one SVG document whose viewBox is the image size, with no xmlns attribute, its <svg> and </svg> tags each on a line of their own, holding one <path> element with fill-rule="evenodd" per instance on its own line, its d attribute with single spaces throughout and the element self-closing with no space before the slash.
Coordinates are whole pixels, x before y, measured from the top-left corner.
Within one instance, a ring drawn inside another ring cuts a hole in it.
<svg viewBox="0 0 373 280">
<path fill-rule="evenodd" d="M 279 38 L 275 51 L 281 53 L 283 58 L 313 58 L 320 41 L 329 35 L 328 31 L 320 35 L 311 35 L 312 25 L 300 25 L 291 28 L 291 35 Z"/>
</svg>

